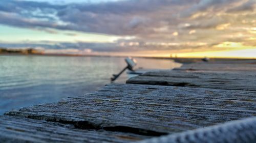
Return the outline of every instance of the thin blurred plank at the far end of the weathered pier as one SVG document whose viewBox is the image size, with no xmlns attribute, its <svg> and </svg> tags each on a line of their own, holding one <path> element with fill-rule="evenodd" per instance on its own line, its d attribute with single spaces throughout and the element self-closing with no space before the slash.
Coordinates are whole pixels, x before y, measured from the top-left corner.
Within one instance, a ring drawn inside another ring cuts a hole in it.
<svg viewBox="0 0 256 143">
<path fill-rule="evenodd" d="M 190 71 L 256 71 L 255 63 L 244 64 L 220 64 L 220 63 L 194 63 L 184 64 L 174 70 Z"/>
</svg>

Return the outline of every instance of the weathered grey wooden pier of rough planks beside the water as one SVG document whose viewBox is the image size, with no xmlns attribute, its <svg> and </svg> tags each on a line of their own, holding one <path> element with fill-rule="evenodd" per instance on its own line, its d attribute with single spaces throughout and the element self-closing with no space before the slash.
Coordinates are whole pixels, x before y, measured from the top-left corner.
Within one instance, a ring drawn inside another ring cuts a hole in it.
<svg viewBox="0 0 256 143">
<path fill-rule="evenodd" d="M 255 71 L 256 62 L 248 60 L 147 72 L 126 84 L 108 84 L 87 95 L 6 112 L 0 117 L 0 140 L 147 142 L 252 118 L 256 116 Z"/>
</svg>

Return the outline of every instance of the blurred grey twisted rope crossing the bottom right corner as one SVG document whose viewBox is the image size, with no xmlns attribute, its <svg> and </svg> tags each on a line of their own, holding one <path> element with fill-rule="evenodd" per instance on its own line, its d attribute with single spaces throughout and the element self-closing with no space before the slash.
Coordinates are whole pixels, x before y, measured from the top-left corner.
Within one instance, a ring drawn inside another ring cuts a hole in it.
<svg viewBox="0 0 256 143">
<path fill-rule="evenodd" d="M 228 122 L 172 135 L 145 139 L 137 143 L 254 143 L 256 140 L 256 118 Z"/>
</svg>

